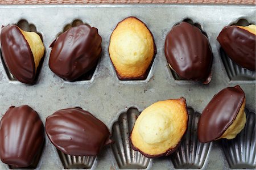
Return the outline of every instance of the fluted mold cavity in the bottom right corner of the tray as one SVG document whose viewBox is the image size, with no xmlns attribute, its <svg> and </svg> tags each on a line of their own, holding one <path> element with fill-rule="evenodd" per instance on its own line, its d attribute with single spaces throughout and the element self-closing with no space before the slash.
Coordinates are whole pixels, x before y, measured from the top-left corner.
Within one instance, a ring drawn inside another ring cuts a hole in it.
<svg viewBox="0 0 256 170">
<path fill-rule="evenodd" d="M 221 144 L 232 169 L 256 168 L 255 113 L 245 109 L 245 128 L 232 140 L 222 139 Z"/>
</svg>

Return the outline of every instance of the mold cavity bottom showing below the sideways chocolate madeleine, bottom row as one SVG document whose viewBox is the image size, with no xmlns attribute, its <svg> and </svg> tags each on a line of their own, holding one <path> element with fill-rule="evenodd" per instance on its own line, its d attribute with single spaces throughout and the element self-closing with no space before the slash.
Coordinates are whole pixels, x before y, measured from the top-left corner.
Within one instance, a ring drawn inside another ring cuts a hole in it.
<svg viewBox="0 0 256 170">
<path fill-rule="evenodd" d="M 61 163 L 65 169 L 90 169 L 96 156 L 72 156 L 57 150 Z"/>
</svg>

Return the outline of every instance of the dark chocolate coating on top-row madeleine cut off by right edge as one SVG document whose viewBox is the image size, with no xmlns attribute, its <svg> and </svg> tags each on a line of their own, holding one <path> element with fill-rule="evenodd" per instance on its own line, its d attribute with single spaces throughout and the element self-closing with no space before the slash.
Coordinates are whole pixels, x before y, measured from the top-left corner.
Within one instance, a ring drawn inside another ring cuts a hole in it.
<svg viewBox="0 0 256 170">
<path fill-rule="evenodd" d="M 253 33 L 233 25 L 224 27 L 217 40 L 234 62 L 255 71 L 256 36 Z"/>
</svg>

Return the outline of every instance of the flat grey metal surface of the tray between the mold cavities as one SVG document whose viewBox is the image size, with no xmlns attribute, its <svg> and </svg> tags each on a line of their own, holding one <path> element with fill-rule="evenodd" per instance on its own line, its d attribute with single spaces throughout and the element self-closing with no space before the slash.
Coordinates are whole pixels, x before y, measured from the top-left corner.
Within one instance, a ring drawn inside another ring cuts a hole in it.
<svg viewBox="0 0 256 170">
<path fill-rule="evenodd" d="M 154 63 L 146 80 L 120 81 L 108 54 L 110 35 L 115 25 L 127 16 L 136 16 L 146 23 L 154 35 L 157 48 Z M 256 23 L 256 6 L 239 5 L 20 5 L 0 6 L 0 25 L 26 19 L 42 33 L 46 58 L 34 86 L 9 80 L 0 64 L 1 117 L 11 106 L 28 104 L 45 123 L 46 117 L 58 109 L 82 107 L 103 121 L 110 131 L 119 114 L 130 107 L 142 111 L 158 100 L 187 99 L 187 105 L 201 113 L 213 95 L 222 88 L 239 84 L 246 94 L 246 108 L 255 113 L 255 80 L 231 80 L 220 57 L 218 33 L 225 25 L 244 18 Z M 175 80 L 164 56 L 164 40 L 171 27 L 189 18 L 199 23 L 208 35 L 214 59 L 212 81 L 208 85 Z M 65 82 L 49 70 L 48 46 L 63 27 L 80 19 L 98 28 L 102 37 L 102 55 L 91 80 Z M 37 169 L 62 169 L 63 164 L 55 147 L 46 137 L 42 158 Z M 0 169 L 7 165 L 0 163 Z M 111 147 L 97 156 L 92 169 L 118 169 Z M 147 169 L 174 169 L 171 158 L 150 160 Z M 229 169 L 224 152 L 213 142 L 203 169 Z"/>
</svg>

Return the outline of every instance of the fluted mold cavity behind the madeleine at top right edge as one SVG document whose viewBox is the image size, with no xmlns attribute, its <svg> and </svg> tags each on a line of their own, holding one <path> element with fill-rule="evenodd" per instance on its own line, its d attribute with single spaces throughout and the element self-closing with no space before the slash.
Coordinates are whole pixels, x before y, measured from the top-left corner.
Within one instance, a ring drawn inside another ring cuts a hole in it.
<svg viewBox="0 0 256 170">
<path fill-rule="evenodd" d="M 236 23 L 232 23 L 230 25 L 239 25 L 245 27 L 250 24 L 252 23 L 249 23 L 246 19 L 240 19 Z M 220 55 L 230 80 L 255 80 L 255 71 L 238 66 L 232 61 L 232 59 L 228 57 L 221 47 Z"/>
</svg>

